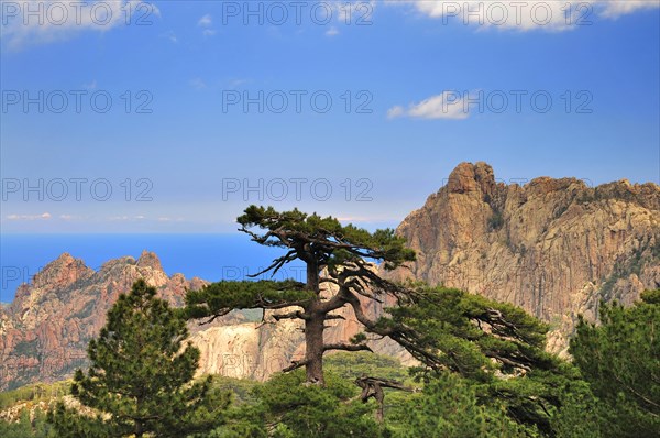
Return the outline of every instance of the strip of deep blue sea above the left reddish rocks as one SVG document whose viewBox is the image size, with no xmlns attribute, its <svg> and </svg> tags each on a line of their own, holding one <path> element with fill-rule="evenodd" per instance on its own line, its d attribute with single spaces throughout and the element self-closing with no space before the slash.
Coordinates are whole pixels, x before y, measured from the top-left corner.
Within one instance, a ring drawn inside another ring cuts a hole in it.
<svg viewBox="0 0 660 438">
<path fill-rule="evenodd" d="M 2 234 L 0 236 L 0 302 L 13 299 L 16 287 L 29 283 L 48 262 L 68 252 L 98 270 L 105 262 L 143 250 L 158 255 L 168 274 L 183 273 L 208 281 L 241 280 L 266 267 L 283 249 L 234 234 Z M 304 277 L 301 262 L 293 262 L 275 280 Z M 258 278 L 266 278 L 260 276 Z M 270 277 L 270 276 L 268 276 Z"/>
</svg>

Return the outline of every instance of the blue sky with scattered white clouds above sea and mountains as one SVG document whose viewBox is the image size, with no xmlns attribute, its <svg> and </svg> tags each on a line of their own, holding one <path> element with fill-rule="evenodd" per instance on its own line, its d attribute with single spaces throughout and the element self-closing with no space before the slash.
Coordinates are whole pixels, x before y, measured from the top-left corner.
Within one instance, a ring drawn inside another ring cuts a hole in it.
<svg viewBox="0 0 660 438">
<path fill-rule="evenodd" d="M 393 227 L 464 161 L 660 183 L 656 0 L 24 3 L 2 1 L 3 233 L 227 232 L 249 204 Z"/>
</svg>

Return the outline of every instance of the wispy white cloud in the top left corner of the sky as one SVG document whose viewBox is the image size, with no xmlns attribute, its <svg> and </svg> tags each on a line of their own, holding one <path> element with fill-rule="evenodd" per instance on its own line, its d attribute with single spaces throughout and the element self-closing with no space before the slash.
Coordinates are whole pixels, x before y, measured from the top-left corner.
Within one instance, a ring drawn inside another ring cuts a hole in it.
<svg viewBox="0 0 660 438">
<path fill-rule="evenodd" d="M 85 31 L 107 32 L 133 25 L 138 20 L 153 22 L 154 17 L 161 14 L 154 4 L 140 0 L 24 0 L 3 3 L 0 35 L 2 44 L 13 51 L 66 41 Z"/>
</svg>

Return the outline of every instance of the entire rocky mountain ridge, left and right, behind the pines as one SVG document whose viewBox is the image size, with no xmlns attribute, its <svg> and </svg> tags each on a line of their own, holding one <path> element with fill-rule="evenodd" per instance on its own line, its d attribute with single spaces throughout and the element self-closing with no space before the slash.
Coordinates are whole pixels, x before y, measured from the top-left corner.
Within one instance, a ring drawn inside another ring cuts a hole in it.
<svg viewBox="0 0 660 438">
<path fill-rule="evenodd" d="M 578 314 L 596 318 L 601 298 L 630 304 L 642 289 L 660 287 L 660 187 L 653 183 L 588 187 L 575 178 L 539 177 L 507 185 L 486 163 L 461 163 L 396 232 L 418 259 L 409 271 L 384 275 L 516 304 L 550 322 L 556 352 L 565 352 Z M 62 380 L 85 365 L 87 342 L 138 277 L 175 306 L 186 288 L 207 283 L 168 276 L 148 251 L 97 271 L 63 253 L 0 307 L 0 390 Z M 369 315 L 381 315 L 384 305 L 372 304 Z M 360 331 L 352 310 L 340 311 L 345 320 L 331 321 L 331 341 Z M 296 321 L 263 325 L 232 313 L 210 327 L 189 327 L 201 350 L 200 373 L 264 380 L 304 354 Z M 372 347 L 410 363 L 392 343 Z"/>
</svg>

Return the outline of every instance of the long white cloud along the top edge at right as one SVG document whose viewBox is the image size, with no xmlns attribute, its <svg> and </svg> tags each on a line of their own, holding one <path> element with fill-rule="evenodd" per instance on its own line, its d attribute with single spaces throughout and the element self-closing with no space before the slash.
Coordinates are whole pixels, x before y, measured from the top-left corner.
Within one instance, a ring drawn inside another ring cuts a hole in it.
<svg viewBox="0 0 660 438">
<path fill-rule="evenodd" d="M 586 0 L 564 2 L 416 0 L 415 8 L 443 24 L 462 23 L 481 28 L 518 31 L 565 31 L 616 19 L 642 9 L 660 7 L 660 0 Z"/>
</svg>

